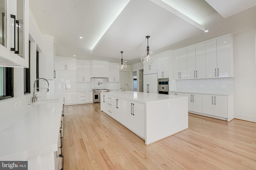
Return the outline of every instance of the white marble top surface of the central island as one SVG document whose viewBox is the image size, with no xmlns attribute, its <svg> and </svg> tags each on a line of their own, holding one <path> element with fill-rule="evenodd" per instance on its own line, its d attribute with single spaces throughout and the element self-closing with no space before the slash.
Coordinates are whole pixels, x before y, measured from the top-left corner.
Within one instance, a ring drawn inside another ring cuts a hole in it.
<svg viewBox="0 0 256 170">
<path fill-rule="evenodd" d="M 123 98 L 123 99 L 127 99 L 127 100 L 133 100 L 135 102 L 140 102 L 140 103 L 184 97 L 184 96 L 174 96 L 174 95 L 144 93 L 144 92 L 133 92 L 133 91 L 102 92 L 101 94 L 106 95 L 106 96 L 113 96 L 113 97 L 116 97 L 116 98 Z"/>
</svg>

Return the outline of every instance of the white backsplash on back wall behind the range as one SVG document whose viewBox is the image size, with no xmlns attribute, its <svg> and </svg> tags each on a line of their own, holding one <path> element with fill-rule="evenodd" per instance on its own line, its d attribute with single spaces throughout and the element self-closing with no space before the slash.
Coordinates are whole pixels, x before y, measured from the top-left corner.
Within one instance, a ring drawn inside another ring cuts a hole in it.
<svg viewBox="0 0 256 170">
<path fill-rule="evenodd" d="M 91 82 L 77 82 L 77 91 L 94 89 L 120 89 L 120 82 L 108 82 L 108 78 L 92 78 Z"/>
</svg>

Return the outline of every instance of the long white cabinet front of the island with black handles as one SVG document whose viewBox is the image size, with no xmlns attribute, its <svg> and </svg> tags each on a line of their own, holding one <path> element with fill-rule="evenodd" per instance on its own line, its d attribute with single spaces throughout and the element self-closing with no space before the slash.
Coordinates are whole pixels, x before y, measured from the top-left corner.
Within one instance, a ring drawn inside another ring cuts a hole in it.
<svg viewBox="0 0 256 170">
<path fill-rule="evenodd" d="M 111 112 L 109 98 L 111 98 Z M 136 135 L 145 138 L 145 104 L 106 95 L 101 95 L 100 99 L 102 111 Z"/>
</svg>

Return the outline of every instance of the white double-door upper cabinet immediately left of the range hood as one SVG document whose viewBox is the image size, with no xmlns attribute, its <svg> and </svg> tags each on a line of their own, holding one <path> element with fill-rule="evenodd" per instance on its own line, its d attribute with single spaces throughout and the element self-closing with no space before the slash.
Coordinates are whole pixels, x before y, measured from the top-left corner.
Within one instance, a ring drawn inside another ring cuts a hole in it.
<svg viewBox="0 0 256 170">
<path fill-rule="evenodd" d="M 91 61 L 76 60 L 76 82 L 91 82 Z"/>
</svg>

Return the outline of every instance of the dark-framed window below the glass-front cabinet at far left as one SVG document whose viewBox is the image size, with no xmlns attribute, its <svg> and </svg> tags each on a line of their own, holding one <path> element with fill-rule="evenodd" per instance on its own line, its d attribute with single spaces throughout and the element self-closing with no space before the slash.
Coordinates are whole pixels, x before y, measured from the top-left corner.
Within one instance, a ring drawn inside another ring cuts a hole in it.
<svg viewBox="0 0 256 170">
<path fill-rule="evenodd" d="M 13 97 L 13 68 L 0 67 L 0 100 Z"/>
</svg>

